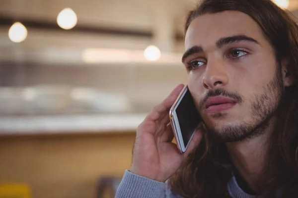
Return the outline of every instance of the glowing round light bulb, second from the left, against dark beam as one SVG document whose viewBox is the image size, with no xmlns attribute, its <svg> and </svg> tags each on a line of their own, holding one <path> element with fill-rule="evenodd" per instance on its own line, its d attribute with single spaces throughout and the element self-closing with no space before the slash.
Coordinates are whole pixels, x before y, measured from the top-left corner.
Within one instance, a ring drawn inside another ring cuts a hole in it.
<svg viewBox="0 0 298 198">
<path fill-rule="evenodd" d="M 72 29 L 76 22 L 76 14 L 71 8 L 64 8 L 57 16 L 58 25 L 65 30 Z"/>
</svg>

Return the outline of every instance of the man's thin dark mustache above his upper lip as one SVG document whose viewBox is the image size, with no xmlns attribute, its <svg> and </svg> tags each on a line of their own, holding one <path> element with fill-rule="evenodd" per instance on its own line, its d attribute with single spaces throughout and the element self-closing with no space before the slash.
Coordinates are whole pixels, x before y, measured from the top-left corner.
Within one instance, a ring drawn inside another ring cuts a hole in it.
<svg viewBox="0 0 298 198">
<path fill-rule="evenodd" d="M 206 96 L 203 97 L 203 99 L 201 99 L 201 101 L 200 101 L 200 108 L 203 108 L 204 104 L 210 97 L 216 97 L 216 96 L 228 97 L 228 98 L 235 100 L 235 102 L 237 102 L 237 103 L 243 102 L 242 96 L 240 94 L 238 94 L 237 92 L 228 92 L 228 91 L 224 90 L 223 88 L 218 88 L 216 90 L 208 90 L 208 92 L 206 93 Z"/>
</svg>

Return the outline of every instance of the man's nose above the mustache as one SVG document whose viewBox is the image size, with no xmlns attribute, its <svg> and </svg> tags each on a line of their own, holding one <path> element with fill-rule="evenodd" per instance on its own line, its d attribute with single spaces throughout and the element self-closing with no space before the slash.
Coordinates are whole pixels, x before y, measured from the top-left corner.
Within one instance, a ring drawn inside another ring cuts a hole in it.
<svg viewBox="0 0 298 198">
<path fill-rule="evenodd" d="M 209 61 L 203 77 L 203 87 L 216 89 L 224 87 L 228 83 L 228 71 L 224 61 Z"/>
</svg>

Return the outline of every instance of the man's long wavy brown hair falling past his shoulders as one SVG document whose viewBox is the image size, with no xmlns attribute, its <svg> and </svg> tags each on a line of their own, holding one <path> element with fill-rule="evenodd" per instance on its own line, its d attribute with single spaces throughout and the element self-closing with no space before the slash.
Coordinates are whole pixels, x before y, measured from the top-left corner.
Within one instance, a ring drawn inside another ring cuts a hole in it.
<svg viewBox="0 0 298 198">
<path fill-rule="evenodd" d="M 277 195 L 298 198 L 298 25 L 271 0 L 202 0 L 189 13 L 185 32 L 196 17 L 225 10 L 240 11 L 254 19 L 271 43 L 277 63 L 288 62 L 294 85 L 284 90 L 267 164 L 256 190 L 264 198 Z M 229 197 L 227 183 L 232 177 L 233 164 L 225 145 L 211 140 L 207 134 L 169 180 L 172 191 L 182 197 Z"/>
</svg>

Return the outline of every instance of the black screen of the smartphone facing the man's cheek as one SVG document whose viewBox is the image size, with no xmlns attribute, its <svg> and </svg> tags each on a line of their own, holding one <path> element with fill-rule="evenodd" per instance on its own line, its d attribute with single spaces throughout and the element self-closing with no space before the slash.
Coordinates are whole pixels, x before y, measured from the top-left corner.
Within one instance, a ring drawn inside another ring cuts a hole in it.
<svg viewBox="0 0 298 198">
<path fill-rule="evenodd" d="M 194 100 L 187 89 L 180 103 L 176 107 L 176 115 L 178 118 L 181 135 L 183 138 L 184 146 L 189 144 L 189 141 L 202 121 L 199 112 L 196 109 Z"/>
</svg>

